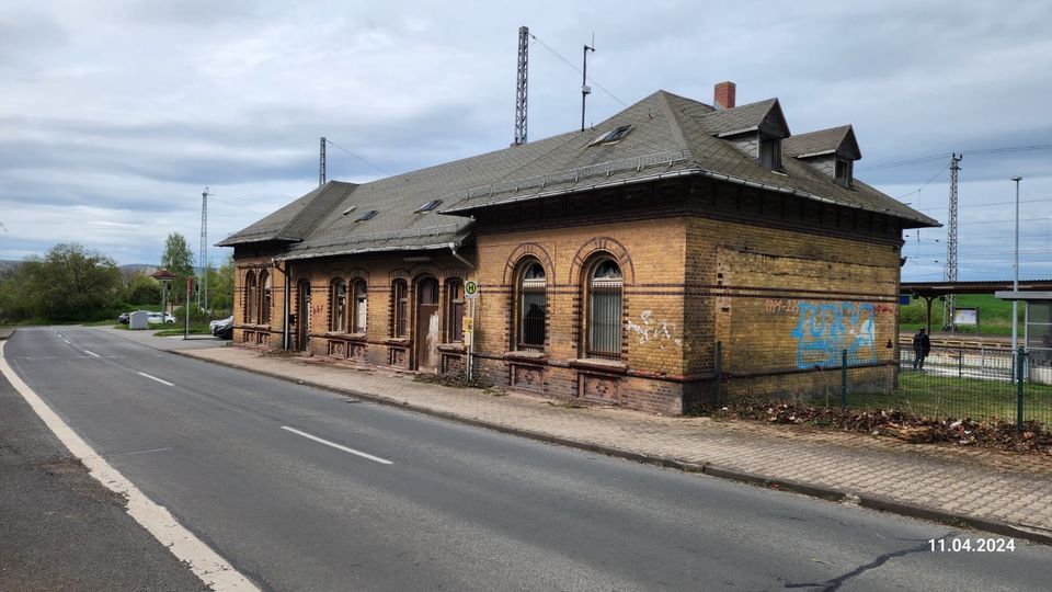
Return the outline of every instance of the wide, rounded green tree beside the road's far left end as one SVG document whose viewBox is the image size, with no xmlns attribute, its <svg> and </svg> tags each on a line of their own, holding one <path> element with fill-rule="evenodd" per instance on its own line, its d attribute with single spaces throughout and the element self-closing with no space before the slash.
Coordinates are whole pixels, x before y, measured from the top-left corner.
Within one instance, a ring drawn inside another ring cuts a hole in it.
<svg viewBox="0 0 1052 592">
<path fill-rule="evenodd" d="M 105 318 L 121 288 L 113 259 L 77 243 L 53 247 L 19 267 L 14 301 L 31 316 L 68 321 Z"/>
</svg>

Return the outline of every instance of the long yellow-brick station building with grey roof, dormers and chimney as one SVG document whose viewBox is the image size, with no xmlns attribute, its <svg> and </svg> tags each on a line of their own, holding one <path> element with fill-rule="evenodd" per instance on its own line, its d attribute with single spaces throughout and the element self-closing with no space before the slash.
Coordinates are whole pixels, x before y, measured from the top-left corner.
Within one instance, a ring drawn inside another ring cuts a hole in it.
<svg viewBox="0 0 1052 592">
<path fill-rule="evenodd" d="M 664 91 L 572 132 L 354 185 L 329 182 L 220 242 L 238 343 L 679 413 L 717 344 L 773 367 L 896 355 L 905 228 L 937 223 L 857 181 L 850 126 L 791 136 L 776 99 Z M 779 357 L 780 356 L 780 357 Z M 775 357 L 779 357 L 775 360 Z M 743 384 L 743 383 L 739 383 Z"/>
</svg>

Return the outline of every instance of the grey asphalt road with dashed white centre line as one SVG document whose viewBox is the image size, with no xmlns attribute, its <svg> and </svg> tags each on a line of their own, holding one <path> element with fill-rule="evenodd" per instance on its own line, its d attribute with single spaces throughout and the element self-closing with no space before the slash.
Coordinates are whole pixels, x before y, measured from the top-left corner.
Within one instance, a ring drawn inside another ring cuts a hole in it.
<svg viewBox="0 0 1052 592">
<path fill-rule="evenodd" d="M 1049 547 L 934 553 L 933 538 L 1004 537 L 521 440 L 103 331 L 20 330 L 5 355 L 147 496 L 274 590 L 1052 585 Z"/>
</svg>

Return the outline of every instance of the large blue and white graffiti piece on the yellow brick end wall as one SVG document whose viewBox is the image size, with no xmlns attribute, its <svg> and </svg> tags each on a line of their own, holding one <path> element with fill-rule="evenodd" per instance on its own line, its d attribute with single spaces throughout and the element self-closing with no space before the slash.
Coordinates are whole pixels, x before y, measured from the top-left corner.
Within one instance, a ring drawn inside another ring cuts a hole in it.
<svg viewBox="0 0 1052 592">
<path fill-rule="evenodd" d="M 797 303 L 800 319 L 792 330 L 797 367 L 837 367 L 847 350 L 848 365 L 877 361 L 873 305 L 865 303 Z"/>
</svg>

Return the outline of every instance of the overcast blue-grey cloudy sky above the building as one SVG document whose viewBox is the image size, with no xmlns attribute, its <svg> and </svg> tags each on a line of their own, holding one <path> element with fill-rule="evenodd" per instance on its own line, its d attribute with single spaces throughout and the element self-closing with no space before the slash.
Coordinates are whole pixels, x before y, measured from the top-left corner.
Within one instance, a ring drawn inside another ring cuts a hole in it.
<svg viewBox="0 0 1052 592">
<path fill-rule="evenodd" d="M 960 173 L 960 276 L 1052 277 L 1052 3 L 37 0 L 0 8 L 0 259 L 77 241 L 157 263 L 329 178 L 363 182 L 507 146 L 517 30 L 529 138 L 658 89 L 777 96 L 793 133 L 854 124 L 856 175 L 945 221 Z M 568 64 L 569 61 L 569 64 Z M 936 280 L 945 229 L 910 231 L 905 281 Z M 226 250 L 209 249 L 209 260 Z"/>
</svg>

